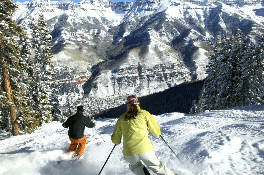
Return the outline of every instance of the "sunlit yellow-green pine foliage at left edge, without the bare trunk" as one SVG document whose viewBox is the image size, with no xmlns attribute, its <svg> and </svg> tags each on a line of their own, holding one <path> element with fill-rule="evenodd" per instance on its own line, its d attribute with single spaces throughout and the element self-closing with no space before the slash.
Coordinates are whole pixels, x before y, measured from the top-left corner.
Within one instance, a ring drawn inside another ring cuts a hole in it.
<svg viewBox="0 0 264 175">
<path fill-rule="evenodd" d="M 11 19 L 12 12 L 16 8 L 16 4 L 12 3 L 12 1 L 0 0 L 1 56 L 5 58 L 9 72 L 10 85 L 14 98 L 13 105 L 15 106 L 18 126 L 25 132 L 30 132 L 32 129 L 36 129 L 39 122 L 35 119 L 36 115 L 34 115 L 34 113 L 36 113 L 36 111 L 32 112 L 30 109 L 31 100 L 28 89 L 29 84 L 32 82 L 32 79 L 29 77 L 29 72 L 32 72 L 32 66 L 29 66 L 27 62 L 26 52 L 28 52 L 28 50 L 19 44 L 23 43 L 25 33 L 23 28 L 18 26 L 17 23 Z M 23 53 L 21 52 L 21 48 L 23 48 Z M 2 101 L 1 104 L 4 106 L 6 102 Z M 6 109 L 4 109 L 4 111 L 6 111 Z M 5 116 L 2 117 L 4 117 L 2 121 L 8 121 Z M 6 124 L 7 123 L 2 126 Z"/>
</svg>

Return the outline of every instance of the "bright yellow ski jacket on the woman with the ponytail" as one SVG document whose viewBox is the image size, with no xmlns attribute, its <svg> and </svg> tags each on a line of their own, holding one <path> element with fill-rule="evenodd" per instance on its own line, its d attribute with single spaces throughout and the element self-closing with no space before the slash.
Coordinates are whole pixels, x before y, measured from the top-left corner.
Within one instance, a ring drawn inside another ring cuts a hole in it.
<svg viewBox="0 0 264 175">
<path fill-rule="evenodd" d="M 128 106 L 128 110 L 130 107 Z M 111 140 L 116 145 L 121 143 L 120 139 L 123 136 L 122 152 L 124 156 L 138 155 L 152 150 L 153 145 L 148 138 L 148 129 L 155 137 L 161 134 L 161 130 L 153 116 L 146 110 L 140 109 L 138 105 L 137 108 L 138 113 L 135 119 L 131 118 L 125 121 L 127 112 L 121 115 L 111 135 Z"/>
</svg>

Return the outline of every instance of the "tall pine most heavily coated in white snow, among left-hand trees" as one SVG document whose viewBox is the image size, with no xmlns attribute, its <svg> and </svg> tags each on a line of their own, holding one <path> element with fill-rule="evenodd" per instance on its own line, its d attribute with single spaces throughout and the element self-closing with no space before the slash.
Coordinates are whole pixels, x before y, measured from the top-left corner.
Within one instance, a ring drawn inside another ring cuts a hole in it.
<svg viewBox="0 0 264 175">
<path fill-rule="evenodd" d="M 39 111 L 39 119 L 42 122 L 49 123 L 52 121 L 51 99 L 55 96 L 55 82 L 53 80 L 54 65 L 51 62 L 51 39 L 52 36 L 47 30 L 44 22 L 44 16 L 40 15 L 39 26 L 36 23 L 30 23 L 33 30 L 34 39 L 32 45 L 35 48 L 35 71 L 36 71 L 36 87 L 35 100 L 37 102 L 37 110 Z M 55 101 L 55 100 L 54 100 Z M 57 102 L 53 104 L 57 104 Z M 54 109 L 54 112 L 58 110 Z"/>
</svg>

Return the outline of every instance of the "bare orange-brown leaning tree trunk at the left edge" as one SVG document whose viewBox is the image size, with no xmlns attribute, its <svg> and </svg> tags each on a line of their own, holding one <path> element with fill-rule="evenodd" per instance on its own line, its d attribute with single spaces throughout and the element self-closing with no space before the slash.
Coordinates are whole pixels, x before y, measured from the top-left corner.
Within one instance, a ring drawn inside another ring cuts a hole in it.
<svg viewBox="0 0 264 175">
<path fill-rule="evenodd" d="M 17 136 L 17 135 L 19 135 L 19 131 L 18 131 L 18 121 L 17 121 L 16 113 L 15 113 L 14 98 L 13 98 L 12 89 L 10 86 L 10 81 L 9 81 L 9 76 L 8 76 L 8 71 L 7 71 L 7 65 L 6 65 L 4 57 L 1 53 L 0 53 L 0 59 L 1 59 L 1 67 L 2 67 L 2 72 L 3 72 L 4 88 L 5 88 L 5 91 L 7 93 L 7 99 L 10 102 L 9 112 L 10 112 L 10 116 L 11 116 L 12 134 L 13 134 L 13 136 Z"/>
</svg>

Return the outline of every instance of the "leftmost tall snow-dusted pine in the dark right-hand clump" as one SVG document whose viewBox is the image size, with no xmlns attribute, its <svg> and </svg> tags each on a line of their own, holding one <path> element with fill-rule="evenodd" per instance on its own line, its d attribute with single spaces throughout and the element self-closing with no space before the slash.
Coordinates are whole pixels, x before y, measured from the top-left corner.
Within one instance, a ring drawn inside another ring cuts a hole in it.
<svg viewBox="0 0 264 175">
<path fill-rule="evenodd" d="M 218 70 L 218 57 L 219 57 L 219 40 L 216 39 L 216 43 L 213 53 L 209 57 L 208 65 L 206 65 L 206 73 L 208 76 L 205 78 L 205 89 L 204 89 L 204 106 L 205 109 L 213 110 L 215 109 L 216 98 L 218 95 L 219 87 L 217 85 L 217 76 L 219 75 Z"/>
</svg>

